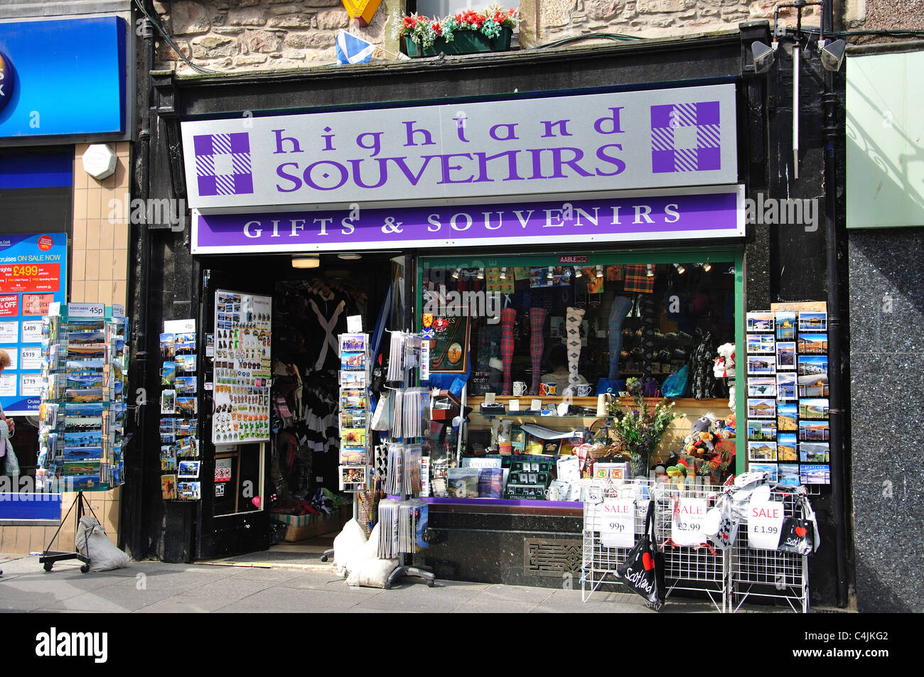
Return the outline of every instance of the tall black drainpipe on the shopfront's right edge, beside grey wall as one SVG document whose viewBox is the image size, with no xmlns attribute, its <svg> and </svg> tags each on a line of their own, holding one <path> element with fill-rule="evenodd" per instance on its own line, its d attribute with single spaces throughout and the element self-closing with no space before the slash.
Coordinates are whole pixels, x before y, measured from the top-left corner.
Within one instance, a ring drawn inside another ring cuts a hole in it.
<svg viewBox="0 0 924 677">
<path fill-rule="evenodd" d="M 823 6 L 822 32 L 833 30 L 833 0 Z M 845 528 L 845 477 L 844 477 L 844 408 L 841 383 L 841 294 L 838 275 L 837 242 L 837 94 L 834 91 L 834 74 L 824 71 L 824 212 L 826 249 L 828 259 L 828 374 L 829 421 L 831 426 L 831 488 L 834 520 L 834 548 L 837 557 L 837 606 L 847 605 L 847 552 Z"/>
</svg>

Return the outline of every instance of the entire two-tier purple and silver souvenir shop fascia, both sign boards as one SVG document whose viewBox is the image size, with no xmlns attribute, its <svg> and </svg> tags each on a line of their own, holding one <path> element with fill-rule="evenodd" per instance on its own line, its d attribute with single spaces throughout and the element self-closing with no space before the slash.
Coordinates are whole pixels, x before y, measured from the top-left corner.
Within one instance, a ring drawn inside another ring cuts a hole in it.
<svg viewBox="0 0 924 677">
<path fill-rule="evenodd" d="M 734 85 L 195 121 L 182 134 L 193 253 L 744 234 Z"/>
</svg>

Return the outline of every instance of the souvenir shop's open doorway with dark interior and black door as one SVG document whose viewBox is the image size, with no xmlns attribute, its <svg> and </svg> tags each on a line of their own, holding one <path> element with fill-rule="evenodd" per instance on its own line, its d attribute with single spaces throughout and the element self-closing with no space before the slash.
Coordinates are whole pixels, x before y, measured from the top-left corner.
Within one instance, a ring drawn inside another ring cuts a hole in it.
<svg viewBox="0 0 924 677">
<path fill-rule="evenodd" d="M 403 266 L 395 264 L 394 256 L 344 260 L 322 255 L 318 267 L 307 269 L 294 268 L 289 255 L 203 261 L 201 345 L 211 343 L 213 355 L 200 367 L 201 381 L 211 383 L 206 388 L 212 390 L 201 398 L 197 559 L 312 563 L 332 547 L 352 516 L 352 495 L 341 493 L 337 481 L 337 335 L 355 316 L 362 318 L 363 331 L 372 332 L 386 302 L 384 318 L 390 319 L 389 292 L 403 284 Z M 215 389 L 223 381 L 226 391 L 232 381 L 220 377 L 227 376 L 229 366 L 239 366 L 228 359 L 227 349 L 236 347 L 228 343 L 230 325 L 224 323 L 228 294 L 232 302 L 237 296 L 245 303 L 249 296 L 270 300 L 269 359 L 261 365 L 260 355 L 244 356 L 245 366 L 249 361 L 266 369 L 251 372 L 256 377 L 252 393 L 247 386 L 231 386 L 246 402 L 257 403 L 256 413 L 265 410 L 265 440 L 223 440 L 224 399 Z M 265 405 L 260 390 L 264 374 L 270 382 Z"/>
</svg>

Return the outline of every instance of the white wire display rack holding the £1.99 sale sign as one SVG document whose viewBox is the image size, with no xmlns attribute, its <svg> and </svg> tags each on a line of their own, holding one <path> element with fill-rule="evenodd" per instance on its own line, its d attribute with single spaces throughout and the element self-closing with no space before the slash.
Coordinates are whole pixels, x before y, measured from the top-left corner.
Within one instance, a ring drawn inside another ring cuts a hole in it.
<svg viewBox="0 0 924 677">
<path fill-rule="evenodd" d="M 772 500 L 784 503 L 785 517 L 805 517 L 802 501 L 795 494 L 775 494 Z M 748 597 L 784 599 L 793 611 L 808 613 L 808 556 L 748 547 L 745 517 L 731 550 L 728 588 L 733 613 Z"/>
</svg>

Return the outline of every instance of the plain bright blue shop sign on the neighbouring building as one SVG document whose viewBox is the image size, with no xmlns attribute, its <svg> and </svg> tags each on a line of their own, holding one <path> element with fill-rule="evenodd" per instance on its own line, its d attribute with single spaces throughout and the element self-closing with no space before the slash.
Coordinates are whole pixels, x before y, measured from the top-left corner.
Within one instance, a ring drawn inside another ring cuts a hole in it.
<svg viewBox="0 0 924 677">
<path fill-rule="evenodd" d="M 126 130 L 120 17 L 0 23 L 0 139 Z"/>
</svg>

